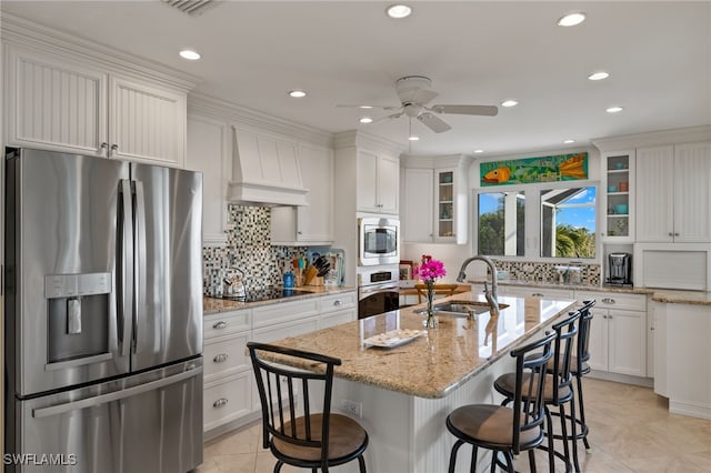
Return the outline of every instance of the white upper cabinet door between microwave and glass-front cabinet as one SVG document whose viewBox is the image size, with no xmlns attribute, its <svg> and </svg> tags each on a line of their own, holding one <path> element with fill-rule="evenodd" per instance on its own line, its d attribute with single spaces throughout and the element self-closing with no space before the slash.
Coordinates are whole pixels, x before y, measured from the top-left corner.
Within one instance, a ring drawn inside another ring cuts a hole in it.
<svg viewBox="0 0 711 473">
<path fill-rule="evenodd" d="M 433 238 L 433 172 L 431 169 L 404 170 L 402 238 L 409 243 L 431 243 Z"/>
</svg>

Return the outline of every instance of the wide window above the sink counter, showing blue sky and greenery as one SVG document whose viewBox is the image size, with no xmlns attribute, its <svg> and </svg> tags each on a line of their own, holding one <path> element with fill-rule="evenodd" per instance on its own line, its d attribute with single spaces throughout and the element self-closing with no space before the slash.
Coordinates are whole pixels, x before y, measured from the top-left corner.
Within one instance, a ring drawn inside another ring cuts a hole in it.
<svg viewBox="0 0 711 473">
<path fill-rule="evenodd" d="M 570 182 L 478 190 L 478 253 L 594 259 L 597 195 L 595 185 L 571 188 Z"/>
</svg>

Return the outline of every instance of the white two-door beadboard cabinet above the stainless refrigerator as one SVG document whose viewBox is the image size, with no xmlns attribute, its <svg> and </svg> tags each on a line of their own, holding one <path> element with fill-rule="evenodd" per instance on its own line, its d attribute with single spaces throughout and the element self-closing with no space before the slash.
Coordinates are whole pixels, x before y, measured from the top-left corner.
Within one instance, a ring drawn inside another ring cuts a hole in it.
<svg viewBox="0 0 711 473">
<path fill-rule="evenodd" d="M 14 44 L 8 58 L 8 144 L 184 165 L 184 91 Z"/>
</svg>

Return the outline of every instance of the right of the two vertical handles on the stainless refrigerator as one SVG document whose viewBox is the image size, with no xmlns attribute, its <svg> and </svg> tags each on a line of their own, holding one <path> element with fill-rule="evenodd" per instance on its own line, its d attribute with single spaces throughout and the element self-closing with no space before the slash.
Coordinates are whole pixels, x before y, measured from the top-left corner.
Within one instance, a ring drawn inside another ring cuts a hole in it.
<svg viewBox="0 0 711 473">
<path fill-rule="evenodd" d="M 146 304 L 146 193 L 143 182 L 136 185 L 136 249 L 133 251 L 133 353 L 139 351 L 139 342 L 148 333 L 144 313 L 139 313 Z"/>
</svg>

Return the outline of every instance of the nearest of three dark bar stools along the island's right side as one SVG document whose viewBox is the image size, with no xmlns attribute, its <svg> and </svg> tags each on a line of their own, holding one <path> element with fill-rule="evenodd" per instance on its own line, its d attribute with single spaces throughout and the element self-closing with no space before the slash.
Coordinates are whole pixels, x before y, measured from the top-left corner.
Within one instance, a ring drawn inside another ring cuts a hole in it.
<svg viewBox="0 0 711 473">
<path fill-rule="evenodd" d="M 457 452 L 464 444 L 472 445 L 470 470 L 475 471 L 479 447 L 492 450 L 491 471 L 497 465 L 513 473 L 513 456 L 529 452 L 531 471 L 535 471 L 533 449 L 543 440 L 542 424 L 545 420 L 543 388 L 548 361 L 552 356 L 555 333 L 511 351 L 515 358 L 513 403 L 511 406 L 498 404 L 470 404 L 455 409 L 447 416 L 447 429 L 457 437 L 449 461 L 449 472 L 457 466 Z M 530 382 L 533 380 L 533 382 Z M 499 460 L 499 453 L 504 456 Z"/>
</svg>

